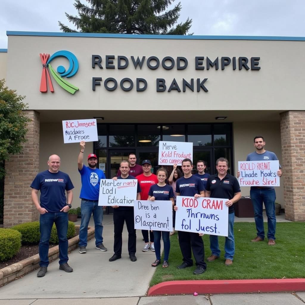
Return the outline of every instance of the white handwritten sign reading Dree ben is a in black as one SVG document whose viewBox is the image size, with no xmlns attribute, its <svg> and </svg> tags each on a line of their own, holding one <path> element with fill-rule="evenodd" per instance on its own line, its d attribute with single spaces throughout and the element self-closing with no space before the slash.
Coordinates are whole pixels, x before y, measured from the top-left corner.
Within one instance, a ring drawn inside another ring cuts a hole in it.
<svg viewBox="0 0 305 305">
<path fill-rule="evenodd" d="M 169 200 L 137 200 L 134 206 L 135 229 L 171 231 L 172 202 Z"/>
</svg>

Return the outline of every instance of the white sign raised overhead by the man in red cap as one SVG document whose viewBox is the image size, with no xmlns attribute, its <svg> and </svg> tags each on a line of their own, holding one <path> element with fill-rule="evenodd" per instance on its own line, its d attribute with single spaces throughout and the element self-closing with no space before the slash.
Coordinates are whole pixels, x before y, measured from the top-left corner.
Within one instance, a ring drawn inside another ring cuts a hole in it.
<svg viewBox="0 0 305 305">
<path fill-rule="evenodd" d="M 63 121 L 63 142 L 98 141 L 96 119 Z"/>
</svg>

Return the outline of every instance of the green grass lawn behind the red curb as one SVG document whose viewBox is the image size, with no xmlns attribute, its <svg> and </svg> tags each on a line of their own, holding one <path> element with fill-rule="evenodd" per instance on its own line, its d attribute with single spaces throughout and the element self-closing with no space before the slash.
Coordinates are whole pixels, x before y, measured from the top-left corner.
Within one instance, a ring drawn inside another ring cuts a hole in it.
<svg viewBox="0 0 305 305">
<path fill-rule="evenodd" d="M 265 233 L 267 223 L 265 223 Z M 177 239 L 178 234 L 170 237 L 170 256 L 167 268 L 161 264 L 156 267 L 150 285 L 173 280 L 216 280 L 216 279 L 259 279 L 259 278 L 304 278 L 305 277 L 305 223 L 283 222 L 276 224 L 276 244 L 251 242 L 256 236 L 255 223 L 237 222 L 234 224 L 235 255 L 232 266 L 224 266 L 224 237 L 220 236 L 220 258 L 207 262 L 210 256 L 209 235 L 203 236 L 207 270 L 194 275 L 196 268 L 177 269 L 182 263 L 182 255 Z M 162 240 L 161 240 L 162 243 Z M 193 258 L 194 260 L 194 258 Z M 161 259 L 161 263 L 163 259 Z M 194 261 L 195 264 L 195 261 Z"/>
</svg>

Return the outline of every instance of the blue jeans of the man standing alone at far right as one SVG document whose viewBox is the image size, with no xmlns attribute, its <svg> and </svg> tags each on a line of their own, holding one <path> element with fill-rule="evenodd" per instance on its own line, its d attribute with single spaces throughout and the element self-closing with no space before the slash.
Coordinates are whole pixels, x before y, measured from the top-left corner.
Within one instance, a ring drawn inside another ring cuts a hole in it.
<svg viewBox="0 0 305 305">
<path fill-rule="evenodd" d="M 264 219 L 263 219 L 263 202 L 266 208 L 268 218 L 268 239 L 275 240 L 275 190 L 267 188 L 251 188 L 250 197 L 253 203 L 254 219 L 256 224 L 257 236 L 264 239 Z"/>
</svg>

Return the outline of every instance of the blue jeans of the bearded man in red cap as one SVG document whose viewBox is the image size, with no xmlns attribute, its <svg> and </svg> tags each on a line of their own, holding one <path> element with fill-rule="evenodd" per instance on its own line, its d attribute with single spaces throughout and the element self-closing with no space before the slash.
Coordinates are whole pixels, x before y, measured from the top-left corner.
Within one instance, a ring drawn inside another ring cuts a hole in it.
<svg viewBox="0 0 305 305">
<path fill-rule="evenodd" d="M 93 213 L 94 220 L 94 236 L 95 246 L 103 243 L 103 207 L 99 206 L 98 200 L 81 199 L 81 226 L 79 228 L 79 243 L 78 246 L 87 246 L 88 224 L 91 214 Z"/>
</svg>

